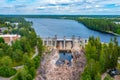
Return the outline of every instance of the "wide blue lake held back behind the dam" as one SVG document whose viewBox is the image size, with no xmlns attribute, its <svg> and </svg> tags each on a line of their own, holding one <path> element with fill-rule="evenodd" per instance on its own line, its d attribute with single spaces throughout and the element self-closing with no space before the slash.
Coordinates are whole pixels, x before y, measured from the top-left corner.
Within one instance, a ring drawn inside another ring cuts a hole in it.
<svg viewBox="0 0 120 80">
<path fill-rule="evenodd" d="M 114 35 L 101 33 L 86 28 L 83 24 L 74 20 L 65 19 L 47 19 L 47 18 L 26 18 L 33 22 L 33 27 L 38 35 L 42 38 L 53 37 L 71 37 L 72 35 L 80 36 L 82 38 L 89 38 L 89 36 L 100 37 L 102 42 L 109 42 Z M 120 37 L 117 37 L 120 43 Z"/>
</svg>

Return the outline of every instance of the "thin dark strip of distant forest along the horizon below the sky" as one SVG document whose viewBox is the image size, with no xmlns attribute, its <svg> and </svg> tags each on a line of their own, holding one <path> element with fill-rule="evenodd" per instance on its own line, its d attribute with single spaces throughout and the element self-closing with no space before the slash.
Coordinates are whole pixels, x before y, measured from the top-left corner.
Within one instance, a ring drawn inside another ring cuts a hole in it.
<svg viewBox="0 0 120 80">
<path fill-rule="evenodd" d="M 0 17 L 26 17 L 26 18 L 120 18 L 120 15 L 0 15 Z"/>
</svg>

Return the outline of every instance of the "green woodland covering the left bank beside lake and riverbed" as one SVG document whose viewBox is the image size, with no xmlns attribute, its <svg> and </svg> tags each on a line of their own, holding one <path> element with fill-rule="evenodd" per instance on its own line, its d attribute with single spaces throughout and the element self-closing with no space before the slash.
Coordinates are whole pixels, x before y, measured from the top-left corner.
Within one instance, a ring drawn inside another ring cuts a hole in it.
<svg viewBox="0 0 120 80">
<path fill-rule="evenodd" d="M 5 21 L 18 22 L 19 25 L 15 28 L 5 24 Z M 0 76 L 12 77 L 11 80 L 33 80 L 43 51 L 41 38 L 36 35 L 31 22 L 23 17 L 0 17 L 2 25 L 9 27 L 7 34 L 19 34 L 21 38 L 11 46 L 0 38 Z M 36 53 L 35 48 L 38 49 L 38 55 L 32 58 Z"/>
</svg>

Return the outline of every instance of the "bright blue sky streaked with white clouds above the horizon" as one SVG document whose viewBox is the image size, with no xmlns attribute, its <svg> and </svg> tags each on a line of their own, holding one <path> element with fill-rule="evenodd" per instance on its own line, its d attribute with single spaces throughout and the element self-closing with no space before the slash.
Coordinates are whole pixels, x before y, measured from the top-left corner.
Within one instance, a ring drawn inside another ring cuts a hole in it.
<svg viewBox="0 0 120 80">
<path fill-rule="evenodd" d="M 120 0 L 0 0 L 0 14 L 120 15 Z"/>
</svg>

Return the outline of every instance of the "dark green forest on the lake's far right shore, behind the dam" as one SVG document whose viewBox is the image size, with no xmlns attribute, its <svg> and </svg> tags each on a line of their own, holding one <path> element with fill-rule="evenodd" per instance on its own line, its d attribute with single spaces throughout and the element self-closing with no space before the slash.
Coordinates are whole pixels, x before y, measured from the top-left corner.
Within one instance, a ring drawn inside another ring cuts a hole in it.
<svg viewBox="0 0 120 80">
<path fill-rule="evenodd" d="M 120 34 L 120 24 L 116 24 L 113 19 L 77 18 L 76 20 L 93 30 L 111 34 Z"/>
</svg>

